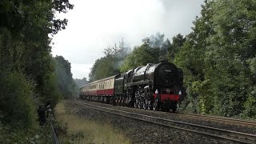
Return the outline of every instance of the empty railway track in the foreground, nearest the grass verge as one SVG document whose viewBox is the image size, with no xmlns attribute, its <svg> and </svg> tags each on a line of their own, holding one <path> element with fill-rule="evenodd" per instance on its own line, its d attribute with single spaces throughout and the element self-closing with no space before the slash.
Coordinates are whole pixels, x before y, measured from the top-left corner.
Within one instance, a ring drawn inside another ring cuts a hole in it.
<svg viewBox="0 0 256 144">
<path fill-rule="evenodd" d="M 89 103 L 79 102 L 79 101 L 70 101 L 71 103 L 77 104 L 79 106 L 85 106 L 90 109 L 103 111 L 109 114 L 115 114 L 126 118 L 132 118 L 142 122 L 150 122 L 160 126 L 166 126 L 178 130 L 183 130 L 187 133 L 201 134 L 207 137 L 210 137 L 217 142 L 228 142 L 228 143 L 256 143 L 255 134 L 246 134 L 241 132 L 236 132 L 232 130 L 223 130 L 210 126 L 200 126 L 188 122 L 179 122 L 166 118 L 158 118 L 144 114 L 136 114 L 123 110 L 114 110 L 111 108 L 106 108 L 102 106 L 94 106 Z"/>
</svg>

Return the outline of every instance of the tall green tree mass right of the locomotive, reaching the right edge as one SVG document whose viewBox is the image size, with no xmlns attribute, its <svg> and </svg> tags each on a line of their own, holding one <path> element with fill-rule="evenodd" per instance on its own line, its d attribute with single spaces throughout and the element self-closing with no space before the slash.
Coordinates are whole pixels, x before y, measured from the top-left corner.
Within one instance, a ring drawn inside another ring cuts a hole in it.
<svg viewBox="0 0 256 144">
<path fill-rule="evenodd" d="M 185 70 L 190 110 L 255 117 L 255 6 L 238 0 L 202 6 L 175 58 Z"/>
</svg>

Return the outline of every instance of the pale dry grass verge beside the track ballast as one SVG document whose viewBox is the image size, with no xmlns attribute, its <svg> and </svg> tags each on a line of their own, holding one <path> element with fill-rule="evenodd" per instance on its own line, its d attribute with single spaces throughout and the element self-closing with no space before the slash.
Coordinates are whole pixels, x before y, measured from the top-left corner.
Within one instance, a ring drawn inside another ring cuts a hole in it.
<svg viewBox="0 0 256 144">
<path fill-rule="evenodd" d="M 71 109 L 71 108 L 69 108 Z M 78 109 L 68 110 L 64 102 L 58 103 L 55 115 L 61 142 L 68 143 L 131 143 L 124 134 L 118 134 L 108 123 L 98 123 L 76 115 Z"/>
</svg>

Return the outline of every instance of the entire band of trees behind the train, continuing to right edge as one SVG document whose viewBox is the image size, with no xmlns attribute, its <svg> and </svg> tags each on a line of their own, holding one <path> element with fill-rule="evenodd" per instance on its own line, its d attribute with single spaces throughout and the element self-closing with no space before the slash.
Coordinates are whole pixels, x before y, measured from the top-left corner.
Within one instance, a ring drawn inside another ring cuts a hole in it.
<svg viewBox="0 0 256 144">
<path fill-rule="evenodd" d="M 90 80 L 167 59 L 184 70 L 183 110 L 256 118 L 255 16 L 254 0 L 206 0 L 186 37 L 178 34 L 172 42 L 159 33 L 144 38 L 118 68 L 104 58 L 96 61 L 91 74 L 101 74 Z"/>
</svg>

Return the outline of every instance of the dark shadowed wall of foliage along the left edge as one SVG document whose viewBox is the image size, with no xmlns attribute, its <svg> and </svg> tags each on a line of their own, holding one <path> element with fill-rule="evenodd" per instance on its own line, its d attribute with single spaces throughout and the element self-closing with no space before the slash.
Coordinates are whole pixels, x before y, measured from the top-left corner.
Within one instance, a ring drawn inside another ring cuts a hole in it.
<svg viewBox="0 0 256 144">
<path fill-rule="evenodd" d="M 1 0 L 0 143 L 29 143 L 38 126 L 38 103 L 49 98 L 58 102 L 50 34 L 67 23 L 54 14 L 72 8 L 68 0 Z"/>
</svg>

